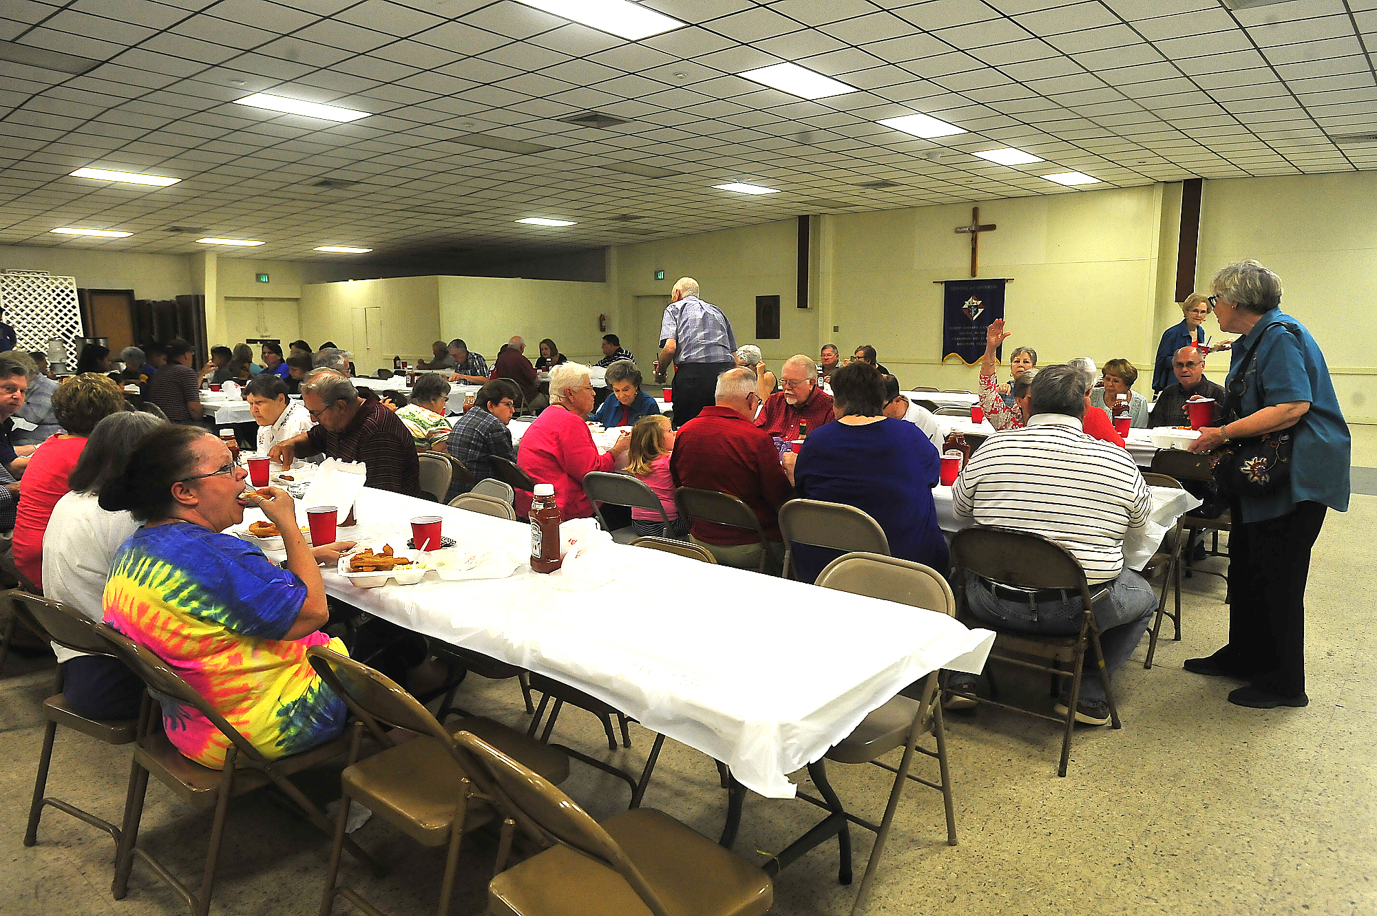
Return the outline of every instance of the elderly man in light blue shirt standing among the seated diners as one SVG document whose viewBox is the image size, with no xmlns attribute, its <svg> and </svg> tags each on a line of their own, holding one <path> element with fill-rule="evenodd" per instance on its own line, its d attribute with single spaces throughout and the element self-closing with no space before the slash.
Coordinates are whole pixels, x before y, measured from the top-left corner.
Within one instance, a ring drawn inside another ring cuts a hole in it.
<svg viewBox="0 0 1377 916">
<path fill-rule="evenodd" d="M 673 360 L 675 428 L 715 403 L 717 375 L 735 367 L 734 352 L 737 336 L 731 322 L 720 308 L 698 298 L 698 281 L 679 278 L 660 322 L 660 370 L 655 373 L 655 381 L 664 384 Z"/>
</svg>

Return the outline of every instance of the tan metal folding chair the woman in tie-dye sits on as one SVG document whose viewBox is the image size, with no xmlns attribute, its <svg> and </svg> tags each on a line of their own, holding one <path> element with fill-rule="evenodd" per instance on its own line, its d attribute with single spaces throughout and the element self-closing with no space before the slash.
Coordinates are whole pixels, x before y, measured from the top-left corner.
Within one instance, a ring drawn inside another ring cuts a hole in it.
<svg viewBox="0 0 1377 916">
<path fill-rule="evenodd" d="M 215 890 L 215 868 L 220 855 L 220 839 L 224 833 L 224 816 L 230 799 L 269 784 L 278 788 L 326 836 L 336 832 L 335 822 L 286 777 L 341 756 L 348 751 L 348 741 L 343 736 L 303 754 L 270 761 L 150 649 L 107 624 L 98 624 L 98 629 L 101 635 L 114 648 L 114 653 L 143 679 L 150 693 L 158 695 L 160 701 L 194 708 L 230 741 L 223 769 L 201 766 L 182 756 L 182 752 L 174 747 L 162 730 L 161 715 L 156 704 L 151 699 L 145 699 L 143 711 L 139 715 L 138 740 L 134 743 L 134 765 L 129 772 L 129 794 L 124 805 L 124 825 L 116 854 L 113 886 L 116 899 L 124 899 L 128 893 L 129 872 L 134 869 L 134 858 L 138 855 L 168 887 L 176 891 L 194 916 L 207 916 L 211 909 L 211 894 Z M 205 869 L 201 876 L 201 887 L 196 894 L 151 853 L 138 844 L 139 821 L 143 817 L 143 798 L 147 792 L 150 774 L 156 776 L 182 802 L 202 810 L 215 809 Z M 339 822 L 344 822 L 343 813 Z M 386 873 L 386 869 L 361 850 L 354 840 L 346 838 L 344 847 L 348 849 L 350 855 L 372 868 L 376 875 Z"/>
</svg>

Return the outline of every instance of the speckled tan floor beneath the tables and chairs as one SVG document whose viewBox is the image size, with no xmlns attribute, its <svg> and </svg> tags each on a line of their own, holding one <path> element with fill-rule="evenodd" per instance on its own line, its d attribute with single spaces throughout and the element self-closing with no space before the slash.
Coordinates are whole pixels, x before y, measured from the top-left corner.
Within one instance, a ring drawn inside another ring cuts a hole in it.
<svg viewBox="0 0 1377 916">
<path fill-rule="evenodd" d="M 1369 429 L 1355 428 L 1355 464 L 1377 466 L 1377 435 Z M 1330 513 L 1315 549 L 1308 708 L 1235 707 L 1224 699 L 1234 684 L 1181 670 L 1183 659 L 1224 641 L 1223 583 L 1197 575 L 1186 582 L 1183 640 L 1164 640 L 1151 671 L 1142 666 L 1144 640 L 1115 678 L 1124 729 L 1078 730 L 1067 778 L 1056 776 L 1060 736 L 1051 725 L 990 710 L 949 718 L 960 846 L 945 843 L 940 796 L 912 785 L 870 912 L 1377 912 L 1377 674 L 1359 652 L 1377 616 L 1360 590 L 1374 565 L 1377 497 L 1355 495 L 1347 514 Z M 37 846 L 21 844 L 43 732 L 37 710 L 50 677 L 47 666 L 28 663 L 0 679 L 0 913 L 183 913 L 143 865 L 135 866 L 128 897 L 113 901 L 113 843 L 59 811 L 44 814 Z M 1019 686 L 1012 675 L 1001 678 L 1007 693 Z M 1026 686 L 1045 693 L 1041 682 Z M 463 701 L 525 726 L 515 682 L 470 678 Z M 560 717 L 556 740 L 638 770 L 651 743 L 632 726 L 632 750 L 609 752 L 596 719 L 577 710 Z M 50 794 L 118 821 L 128 759 L 127 750 L 59 730 Z M 571 766 L 563 788 L 595 817 L 627 803 L 622 783 L 577 761 Z M 829 772 L 848 807 L 879 817 L 887 773 L 839 765 Z M 324 800 L 337 773 L 300 784 Z M 712 761 L 666 741 L 646 805 L 715 838 L 726 799 Z M 817 817 L 799 800 L 750 796 L 735 849 L 760 861 Z M 140 839 L 194 884 L 209 822 L 209 813 L 191 813 L 153 785 Z M 859 883 L 872 836 L 852 835 Z M 379 818 L 354 836 L 392 871 L 376 880 L 346 857 L 346 880 L 387 913 L 434 912 L 442 850 L 423 850 Z M 326 854 L 328 840 L 267 794 L 240 799 L 231 806 L 212 912 L 314 913 Z M 492 855 L 486 838 L 465 846 L 452 912 L 482 912 Z M 854 894 L 855 886 L 836 883 L 836 844 L 829 843 L 779 875 L 771 912 L 847 913 Z M 335 912 L 350 909 L 336 902 Z"/>
</svg>

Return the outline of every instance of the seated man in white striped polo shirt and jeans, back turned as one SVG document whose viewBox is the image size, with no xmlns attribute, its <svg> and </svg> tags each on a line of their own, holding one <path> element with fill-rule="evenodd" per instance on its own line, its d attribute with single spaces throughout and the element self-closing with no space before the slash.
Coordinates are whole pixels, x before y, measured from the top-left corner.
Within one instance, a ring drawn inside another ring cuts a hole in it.
<svg viewBox="0 0 1377 916">
<path fill-rule="evenodd" d="M 1128 660 L 1157 611 L 1153 587 L 1124 568 L 1124 538 L 1147 524 L 1151 498 L 1143 475 L 1122 448 L 1081 429 L 1085 382 L 1071 366 L 1048 366 L 1033 380 L 1027 426 L 990 436 L 952 487 L 956 514 L 982 525 L 1041 535 L 1074 556 L 1091 589 L 1107 586 L 1095 602 L 1095 623 L 1110 675 Z M 1042 635 L 1080 633 L 1080 594 L 1020 591 L 974 574 L 965 580 L 976 619 L 1002 630 Z M 960 692 L 972 675 L 953 675 Z M 1063 684 L 1069 690 L 1070 684 Z M 1056 711 L 1066 715 L 1066 693 Z M 1075 721 L 1110 721 L 1104 682 L 1086 657 Z"/>
</svg>

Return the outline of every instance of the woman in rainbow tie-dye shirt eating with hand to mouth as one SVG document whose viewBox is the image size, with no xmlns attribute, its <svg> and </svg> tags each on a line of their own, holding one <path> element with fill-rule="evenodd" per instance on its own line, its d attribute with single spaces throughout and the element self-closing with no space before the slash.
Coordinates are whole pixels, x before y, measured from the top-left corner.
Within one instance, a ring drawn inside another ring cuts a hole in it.
<svg viewBox="0 0 1377 916">
<path fill-rule="evenodd" d="M 101 491 L 101 508 L 128 509 L 145 525 L 114 556 L 105 620 L 153 649 L 262 754 L 280 758 L 329 741 L 344 728 L 344 703 L 306 660 L 337 640 L 319 631 L 325 583 L 278 488 L 245 497 L 246 472 L 229 448 L 193 426 L 145 436 L 124 475 Z M 284 534 L 286 569 L 257 547 L 219 534 L 259 505 Z M 164 701 L 168 739 L 186 756 L 222 766 L 229 740 L 193 708 Z"/>
</svg>

